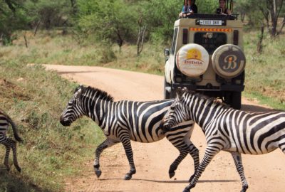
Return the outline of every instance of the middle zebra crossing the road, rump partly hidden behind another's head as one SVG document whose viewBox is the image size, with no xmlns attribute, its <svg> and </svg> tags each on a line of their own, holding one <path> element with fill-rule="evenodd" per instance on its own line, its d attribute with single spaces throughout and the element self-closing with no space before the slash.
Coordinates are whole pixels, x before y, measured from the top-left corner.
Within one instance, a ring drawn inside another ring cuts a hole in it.
<svg viewBox="0 0 285 192">
<path fill-rule="evenodd" d="M 103 130 L 107 139 L 95 150 L 93 164 L 97 177 L 101 174 L 99 158 L 104 149 L 122 142 L 130 164 L 130 171 L 125 175 L 125 180 L 128 180 L 135 174 L 130 140 L 149 143 L 167 137 L 180 151 L 180 155 L 169 169 L 169 176 L 172 178 L 177 166 L 188 153 L 194 159 L 195 170 L 199 165 L 199 151 L 190 142 L 194 124 L 192 121 L 180 124 L 179 127 L 175 127 L 167 133 L 163 133 L 159 127 L 162 117 L 164 117 L 172 101 L 133 102 L 122 100 L 113 102 L 113 97 L 107 92 L 81 85 L 74 92 L 66 109 L 63 110 L 60 122 L 63 126 L 69 126 L 76 119 L 85 115 L 93 119 Z"/>
</svg>

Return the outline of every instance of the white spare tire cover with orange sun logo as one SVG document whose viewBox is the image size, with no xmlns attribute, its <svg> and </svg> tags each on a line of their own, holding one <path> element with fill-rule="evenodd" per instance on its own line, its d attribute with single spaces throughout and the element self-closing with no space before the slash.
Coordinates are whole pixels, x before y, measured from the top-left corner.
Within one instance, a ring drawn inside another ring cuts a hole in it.
<svg viewBox="0 0 285 192">
<path fill-rule="evenodd" d="M 202 75 L 209 65 L 209 54 L 202 46 L 190 43 L 182 46 L 176 55 L 177 68 L 190 77 Z"/>
</svg>

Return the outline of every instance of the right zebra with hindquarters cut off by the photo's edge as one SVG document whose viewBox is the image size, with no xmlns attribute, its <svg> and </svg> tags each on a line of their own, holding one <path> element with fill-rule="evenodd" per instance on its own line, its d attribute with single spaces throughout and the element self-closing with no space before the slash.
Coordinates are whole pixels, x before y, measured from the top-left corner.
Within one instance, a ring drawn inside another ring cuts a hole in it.
<svg viewBox="0 0 285 192">
<path fill-rule="evenodd" d="M 285 112 L 244 112 L 193 92 L 181 92 L 165 114 L 163 129 L 190 119 L 202 128 L 207 148 L 184 192 L 195 187 L 206 166 L 221 150 L 232 154 L 242 191 L 247 191 L 248 184 L 241 154 L 266 154 L 278 147 L 285 153 Z"/>
</svg>

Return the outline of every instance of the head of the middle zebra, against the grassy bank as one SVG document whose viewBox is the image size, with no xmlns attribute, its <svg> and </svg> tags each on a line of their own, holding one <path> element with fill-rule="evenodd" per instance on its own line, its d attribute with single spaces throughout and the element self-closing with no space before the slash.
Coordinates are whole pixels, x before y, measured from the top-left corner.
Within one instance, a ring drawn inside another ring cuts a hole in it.
<svg viewBox="0 0 285 192">
<path fill-rule="evenodd" d="M 81 95 L 86 92 L 86 87 L 80 85 L 76 88 L 73 97 L 69 100 L 68 105 L 61 113 L 60 122 L 63 126 L 70 126 L 72 122 L 83 116 L 81 107 Z"/>
</svg>

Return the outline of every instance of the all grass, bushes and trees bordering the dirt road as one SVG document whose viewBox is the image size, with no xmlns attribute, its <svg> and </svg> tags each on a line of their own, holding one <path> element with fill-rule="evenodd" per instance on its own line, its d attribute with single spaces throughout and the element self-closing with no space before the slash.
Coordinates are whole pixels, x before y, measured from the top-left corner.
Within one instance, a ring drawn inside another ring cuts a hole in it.
<svg viewBox="0 0 285 192">
<path fill-rule="evenodd" d="M 0 107 L 16 121 L 24 138 L 19 145 L 23 171 L 18 174 L 12 167 L 7 174 L 0 161 L 0 191 L 63 191 L 64 178 L 82 171 L 78 167 L 93 159 L 93 148 L 103 137 L 86 118 L 62 127 L 58 118 L 76 84 L 26 64 L 100 65 L 162 75 L 163 48 L 170 45 L 182 4 L 181 0 L 0 0 Z M 285 110 L 282 4 L 282 0 L 241 0 L 234 6 L 246 30 L 244 94 Z M 197 6 L 199 12 L 213 13 L 217 1 L 197 0 Z M 1 158 L 3 154 L 1 146 Z"/>
</svg>

